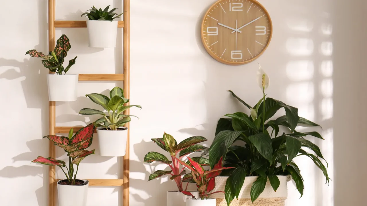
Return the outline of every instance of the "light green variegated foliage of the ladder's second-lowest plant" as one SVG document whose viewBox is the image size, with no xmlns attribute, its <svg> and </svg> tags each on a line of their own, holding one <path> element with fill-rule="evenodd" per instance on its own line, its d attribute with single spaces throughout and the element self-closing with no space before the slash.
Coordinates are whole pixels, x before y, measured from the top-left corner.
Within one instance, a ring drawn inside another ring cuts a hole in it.
<svg viewBox="0 0 367 206">
<path fill-rule="evenodd" d="M 138 107 L 141 108 L 140 105 L 128 105 L 124 106 L 124 104 L 128 103 L 130 100 L 124 98 L 124 91 L 115 87 L 110 91 L 110 98 L 105 95 L 101 95 L 98 93 L 91 93 L 86 95 L 92 102 L 101 105 L 108 113 L 100 110 L 95 110 L 91 108 L 83 108 L 79 111 L 79 114 L 84 115 L 93 115 L 99 114 L 102 115 L 101 118 L 97 119 L 94 122 L 96 127 L 104 127 L 108 130 L 117 130 L 119 127 L 123 126 L 127 122 L 131 121 L 130 117 L 136 117 L 134 115 L 125 115 L 123 112 L 130 107 Z"/>
</svg>

